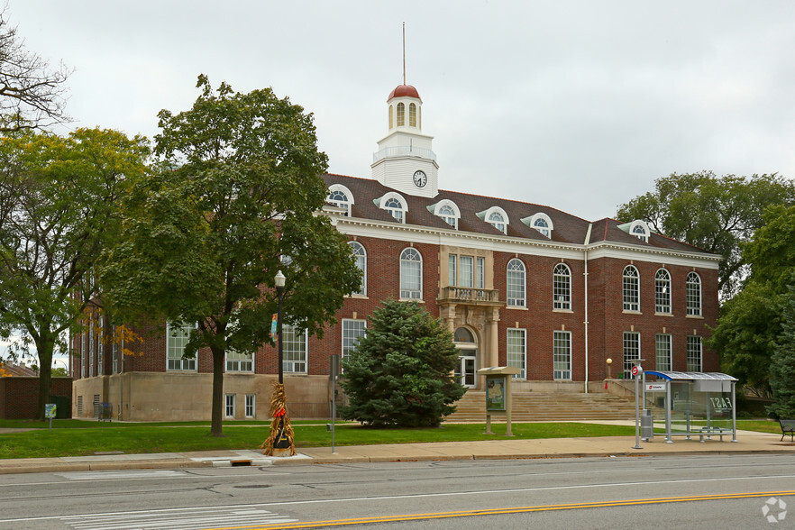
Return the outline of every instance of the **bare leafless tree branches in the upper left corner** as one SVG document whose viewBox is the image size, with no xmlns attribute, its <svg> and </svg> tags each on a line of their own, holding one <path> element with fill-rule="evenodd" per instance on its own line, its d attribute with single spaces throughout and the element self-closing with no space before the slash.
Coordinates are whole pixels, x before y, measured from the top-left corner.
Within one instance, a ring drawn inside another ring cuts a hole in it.
<svg viewBox="0 0 795 530">
<path fill-rule="evenodd" d="M 46 60 L 27 50 L 16 28 L 0 11 L 0 132 L 47 127 L 66 116 L 65 83 L 69 70 L 50 69 Z"/>
</svg>

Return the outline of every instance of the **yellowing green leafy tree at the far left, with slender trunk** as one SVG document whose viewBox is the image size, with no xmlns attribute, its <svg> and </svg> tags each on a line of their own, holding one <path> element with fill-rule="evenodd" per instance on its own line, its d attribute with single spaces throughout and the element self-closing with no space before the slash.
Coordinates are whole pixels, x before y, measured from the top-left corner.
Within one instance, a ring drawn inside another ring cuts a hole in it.
<svg viewBox="0 0 795 530">
<path fill-rule="evenodd" d="M 0 336 L 38 357 L 40 417 L 52 354 L 67 351 L 64 332 L 96 296 L 90 271 L 148 155 L 144 139 L 98 129 L 0 138 Z"/>
</svg>

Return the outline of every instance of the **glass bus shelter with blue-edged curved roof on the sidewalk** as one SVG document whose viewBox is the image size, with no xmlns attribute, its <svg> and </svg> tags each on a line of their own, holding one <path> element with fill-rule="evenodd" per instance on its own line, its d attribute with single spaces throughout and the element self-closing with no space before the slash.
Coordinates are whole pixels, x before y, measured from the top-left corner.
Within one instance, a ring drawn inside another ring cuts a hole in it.
<svg viewBox="0 0 795 530">
<path fill-rule="evenodd" d="M 736 382 L 725 373 L 699 371 L 644 371 L 644 413 L 665 421 L 665 442 L 672 436 L 699 436 L 699 441 L 731 434 L 737 441 Z"/>
</svg>

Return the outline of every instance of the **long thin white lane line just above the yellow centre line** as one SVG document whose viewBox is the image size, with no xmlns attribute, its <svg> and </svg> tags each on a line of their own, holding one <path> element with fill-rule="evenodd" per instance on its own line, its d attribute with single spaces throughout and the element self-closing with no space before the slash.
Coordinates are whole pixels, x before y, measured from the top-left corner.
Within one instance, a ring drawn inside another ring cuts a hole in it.
<svg viewBox="0 0 795 530">
<path fill-rule="evenodd" d="M 505 494 L 505 493 L 520 493 L 526 491 L 553 491 L 560 489 L 593 489 L 593 488 L 608 488 L 608 487 L 621 487 L 621 486 L 653 486 L 656 484 L 682 484 L 682 483 L 695 483 L 695 482 L 723 482 L 726 480 L 768 480 L 768 479 L 795 479 L 795 475 L 765 475 L 760 477 L 723 477 L 719 479 L 681 479 L 681 480 L 648 480 L 645 482 L 606 482 L 601 484 L 583 484 L 580 486 L 544 486 L 539 488 L 516 488 L 516 489 L 481 489 L 474 491 L 459 491 L 451 493 L 415 493 L 411 495 L 385 495 L 382 497 L 352 497 L 352 498 L 324 498 L 317 500 L 287 500 L 282 502 L 264 502 L 261 504 L 247 504 L 236 505 L 237 508 L 242 507 L 275 507 L 275 506 L 294 506 L 300 504 L 329 504 L 337 502 L 357 502 L 357 501 L 373 501 L 373 500 L 390 500 L 396 498 L 430 498 L 430 497 L 455 497 L 465 495 L 489 495 L 489 494 Z M 0 519 L 0 523 L 16 523 L 25 521 L 41 521 L 48 519 L 68 520 L 71 517 L 82 516 L 96 516 L 96 515 L 123 515 L 123 514 L 136 514 L 136 513 L 166 513 L 172 510 L 198 510 L 198 509 L 215 509 L 219 507 L 191 507 L 191 508 L 164 508 L 162 510 L 139 510 L 128 512 L 115 512 L 108 514 L 83 514 L 76 516 L 41 516 L 41 517 L 22 517 L 17 519 Z M 223 507 L 228 508 L 228 507 Z"/>
</svg>

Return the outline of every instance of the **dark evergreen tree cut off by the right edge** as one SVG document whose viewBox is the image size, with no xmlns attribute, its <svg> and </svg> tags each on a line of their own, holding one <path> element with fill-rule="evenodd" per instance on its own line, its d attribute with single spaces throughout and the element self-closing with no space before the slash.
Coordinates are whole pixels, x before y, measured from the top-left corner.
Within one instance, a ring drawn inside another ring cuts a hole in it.
<svg viewBox="0 0 795 530">
<path fill-rule="evenodd" d="M 776 400 L 767 411 L 774 417 L 795 418 L 795 287 L 781 317 L 781 334 L 771 357 L 770 387 Z"/>
</svg>

